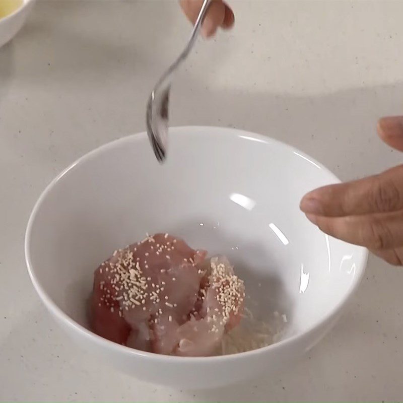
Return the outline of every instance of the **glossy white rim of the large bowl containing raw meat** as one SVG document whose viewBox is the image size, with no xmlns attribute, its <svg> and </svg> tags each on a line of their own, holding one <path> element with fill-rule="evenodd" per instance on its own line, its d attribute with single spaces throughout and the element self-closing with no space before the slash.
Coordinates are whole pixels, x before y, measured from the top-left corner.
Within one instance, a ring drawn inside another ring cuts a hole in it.
<svg viewBox="0 0 403 403">
<path fill-rule="evenodd" d="M 34 0 L 28 0 L 28 2 L 34 1 Z M 257 141 L 259 143 L 264 143 L 264 144 L 273 144 L 276 145 L 277 147 L 280 147 L 284 150 L 294 152 L 297 156 L 307 160 L 311 164 L 315 165 L 317 168 L 323 170 L 328 174 L 333 180 L 340 182 L 340 179 L 335 176 L 330 170 L 328 170 L 325 166 L 323 166 L 321 163 L 317 162 L 315 159 L 311 158 L 310 156 L 306 155 L 302 151 L 287 145 L 286 143 L 283 143 L 279 140 L 267 137 L 265 135 L 259 135 L 253 132 L 249 132 L 247 130 L 242 130 L 242 129 L 236 129 L 232 127 L 217 127 L 217 126 L 175 126 L 175 127 L 170 127 L 170 136 L 175 136 L 179 135 L 180 132 L 186 131 L 186 136 L 192 136 L 192 135 L 197 135 L 199 131 L 207 131 L 210 133 L 214 133 L 215 131 L 220 131 L 220 132 L 227 132 L 228 134 L 231 135 L 236 135 L 238 138 L 242 138 L 245 140 L 251 140 L 251 141 Z M 193 133 L 192 133 L 193 132 Z M 326 315 L 323 316 L 323 318 L 318 321 L 317 323 L 314 323 L 310 327 L 308 327 L 306 330 L 304 330 L 301 333 L 294 334 L 290 336 L 289 338 L 285 340 L 280 340 L 279 342 L 276 342 L 274 344 L 271 344 L 266 347 L 261 347 L 256 350 L 250 350 L 246 351 L 243 353 L 236 353 L 236 354 L 230 354 L 230 355 L 224 355 L 224 356 L 212 356 L 212 357 L 180 357 L 180 356 L 168 356 L 168 355 L 163 355 L 163 354 L 157 354 L 157 353 L 149 353 L 141 350 L 136 350 L 130 347 L 122 346 L 120 344 L 111 342 L 107 339 L 104 339 L 97 335 L 96 333 L 92 332 L 91 330 L 87 329 L 86 327 L 82 326 L 78 322 L 76 322 L 74 319 L 72 319 L 68 314 L 66 314 L 62 309 L 60 309 L 55 302 L 48 296 L 46 291 L 43 289 L 41 286 L 40 282 L 37 280 L 36 275 L 35 275 L 35 269 L 32 265 L 31 262 L 31 251 L 30 251 L 30 240 L 31 240 L 31 233 L 32 233 L 32 228 L 33 224 L 35 221 L 35 218 L 37 216 L 37 213 L 42 205 L 43 200 L 49 193 L 49 191 L 52 189 L 52 187 L 63 178 L 64 175 L 66 175 L 70 170 L 74 169 L 77 167 L 79 164 L 84 163 L 86 161 L 91 160 L 94 158 L 97 154 L 102 153 L 107 151 L 108 149 L 114 148 L 119 146 L 121 143 L 125 142 L 137 142 L 137 141 L 143 141 L 147 140 L 147 133 L 146 132 L 140 132 L 136 133 L 134 135 L 129 135 L 126 137 L 122 137 L 120 139 L 108 142 L 106 144 L 103 144 L 94 150 L 84 154 L 82 157 L 78 158 L 75 162 L 73 162 L 70 166 L 65 168 L 61 173 L 59 173 L 42 191 L 40 194 L 38 200 L 36 201 L 34 208 L 31 212 L 31 215 L 28 220 L 27 224 L 27 229 L 25 233 L 25 240 L 24 240 L 24 250 L 25 250 L 25 261 L 27 264 L 27 270 L 29 277 L 31 279 L 31 282 L 38 293 L 42 303 L 45 305 L 45 307 L 50 311 L 52 315 L 54 315 L 56 318 L 67 324 L 70 328 L 74 329 L 80 335 L 83 337 L 89 339 L 92 342 L 95 342 L 96 344 L 100 345 L 101 347 L 104 347 L 106 349 L 112 349 L 116 351 L 116 353 L 119 354 L 129 354 L 131 356 L 136 356 L 136 357 L 143 357 L 147 358 L 150 360 L 154 361 L 164 361 L 164 362 L 170 362 L 170 363 L 194 363 L 194 364 L 207 364 L 208 362 L 214 363 L 218 361 L 234 361 L 234 360 L 239 360 L 242 358 L 252 358 L 253 356 L 259 355 L 259 354 L 265 354 L 270 351 L 276 350 L 276 349 L 283 349 L 287 348 L 288 345 L 293 344 L 296 342 L 298 339 L 301 339 L 303 337 L 308 337 L 310 334 L 313 334 L 316 330 L 319 330 L 320 328 L 323 327 L 324 324 L 330 323 L 333 319 L 337 318 L 338 315 L 341 313 L 343 307 L 349 302 L 351 299 L 352 295 L 358 288 L 359 284 L 361 283 L 361 280 L 364 276 L 365 273 L 365 268 L 367 265 L 368 261 L 368 250 L 364 247 L 359 247 L 361 249 L 360 254 L 358 255 L 358 264 L 357 266 L 360 267 L 361 272 L 356 274 L 353 278 L 352 284 L 350 285 L 350 288 L 346 292 L 346 294 L 343 296 L 341 301 L 339 301 L 338 304 L 336 304 Z M 356 272 L 357 273 L 357 272 Z M 313 347 L 313 345 L 311 346 Z"/>
</svg>

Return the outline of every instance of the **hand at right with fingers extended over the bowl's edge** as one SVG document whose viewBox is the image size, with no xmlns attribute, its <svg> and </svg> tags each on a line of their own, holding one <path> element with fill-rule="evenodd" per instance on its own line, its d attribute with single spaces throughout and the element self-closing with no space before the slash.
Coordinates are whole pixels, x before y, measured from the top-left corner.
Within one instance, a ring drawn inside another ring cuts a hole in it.
<svg viewBox="0 0 403 403">
<path fill-rule="evenodd" d="M 403 151 L 403 116 L 384 117 L 377 128 L 386 144 Z M 313 190 L 300 207 L 326 234 L 365 246 L 390 264 L 403 265 L 403 165 Z"/>
</svg>

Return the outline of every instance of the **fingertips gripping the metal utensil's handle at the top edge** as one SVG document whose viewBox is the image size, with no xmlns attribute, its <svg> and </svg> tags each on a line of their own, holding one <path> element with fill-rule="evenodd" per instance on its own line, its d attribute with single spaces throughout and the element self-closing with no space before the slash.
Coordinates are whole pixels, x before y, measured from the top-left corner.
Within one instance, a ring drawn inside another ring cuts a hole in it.
<svg viewBox="0 0 403 403">
<path fill-rule="evenodd" d="M 187 19 L 194 25 L 203 0 L 179 0 L 179 3 Z M 216 33 L 218 27 L 229 29 L 234 22 L 235 17 L 231 8 L 222 0 L 213 0 L 201 25 L 201 34 L 208 38 Z"/>
</svg>

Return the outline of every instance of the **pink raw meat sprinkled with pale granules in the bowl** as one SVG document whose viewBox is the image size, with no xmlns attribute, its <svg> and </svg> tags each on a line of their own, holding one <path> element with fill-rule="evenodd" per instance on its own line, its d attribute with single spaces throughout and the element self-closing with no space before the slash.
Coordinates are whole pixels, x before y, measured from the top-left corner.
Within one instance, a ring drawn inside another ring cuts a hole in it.
<svg viewBox="0 0 403 403">
<path fill-rule="evenodd" d="M 228 260 L 206 254 L 168 234 L 115 251 L 94 273 L 93 331 L 143 351 L 213 354 L 240 320 L 244 287 Z"/>
</svg>

